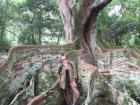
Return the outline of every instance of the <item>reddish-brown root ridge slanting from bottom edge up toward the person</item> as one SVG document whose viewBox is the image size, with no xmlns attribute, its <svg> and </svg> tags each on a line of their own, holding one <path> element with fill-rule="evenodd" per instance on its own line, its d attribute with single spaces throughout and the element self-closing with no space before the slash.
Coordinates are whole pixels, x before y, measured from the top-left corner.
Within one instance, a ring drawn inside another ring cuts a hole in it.
<svg viewBox="0 0 140 105">
<path fill-rule="evenodd" d="M 57 80 L 52 88 L 49 90 L 43 92 L 42 94 L 36 96 L 34 99 L 32 99 L 27 105 L 38 105 L 40 102 L 42 102 L 44 99 L 46 99 L 47 96 L 49 96 L 52 93 L 52 90 L 54 90 L 59 83 L 59 80 Z"/>
</svg>

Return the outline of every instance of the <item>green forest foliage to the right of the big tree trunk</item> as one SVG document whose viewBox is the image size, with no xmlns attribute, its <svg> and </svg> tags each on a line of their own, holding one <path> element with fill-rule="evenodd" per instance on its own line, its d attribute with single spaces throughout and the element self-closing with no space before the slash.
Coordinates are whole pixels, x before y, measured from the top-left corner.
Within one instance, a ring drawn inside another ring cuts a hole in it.
<svg viewBox="0 0 140 105">
<path fill-rule="evenodd" d="M 111 46 L 139 47 L 140 7 L 138 5 L 138 0 L 112 1 L 98 17 L 98 40 L 103 44 L 109 42 Z"/>
</svg>

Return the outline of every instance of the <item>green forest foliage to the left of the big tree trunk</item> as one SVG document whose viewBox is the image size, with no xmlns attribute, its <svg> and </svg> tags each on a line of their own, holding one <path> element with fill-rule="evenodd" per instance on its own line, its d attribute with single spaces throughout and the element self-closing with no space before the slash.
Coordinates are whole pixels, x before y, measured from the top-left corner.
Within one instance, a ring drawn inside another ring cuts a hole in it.
<svg viewBox="0 0 140 105">
<path fill-rule="evenodd" d="M 1 0 L 0 26 L 0 40 L 6 35 L 15 44 L 45 44 L 64 34 L 55 0 Z"/>
</svg>

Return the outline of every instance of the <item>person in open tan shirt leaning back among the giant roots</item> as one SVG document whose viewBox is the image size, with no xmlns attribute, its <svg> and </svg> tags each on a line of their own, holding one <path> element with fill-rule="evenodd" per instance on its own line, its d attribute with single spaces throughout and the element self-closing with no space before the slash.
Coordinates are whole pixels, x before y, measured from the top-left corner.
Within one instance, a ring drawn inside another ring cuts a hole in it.
<svg viewBox="0 0 140 105">
<path fill-rule="evenodd" d="M 74 63 L 67 60 L 65 54 L 60 56 L 61 65 L 58 74 L 60 76 L 60 88 L 67 105 L 77 105 L 80 96 L 77 88 L 77 71 Z"/>
</svg>

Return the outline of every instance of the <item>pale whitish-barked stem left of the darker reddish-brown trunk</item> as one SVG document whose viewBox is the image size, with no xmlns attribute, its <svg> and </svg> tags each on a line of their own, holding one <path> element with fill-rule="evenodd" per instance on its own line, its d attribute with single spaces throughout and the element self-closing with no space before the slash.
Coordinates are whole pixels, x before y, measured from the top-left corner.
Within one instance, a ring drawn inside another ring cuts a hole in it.
<svg viewBox="0 0 140 105">
<path fill-rule="evenodd" d="M 64 24 L 65 41 L 66 43 L 71 43 L 74 39 L 74 24 L 72 18 L 74 0 L 59 0 L 58 4 L 62 22 Z"/>
</svg>

